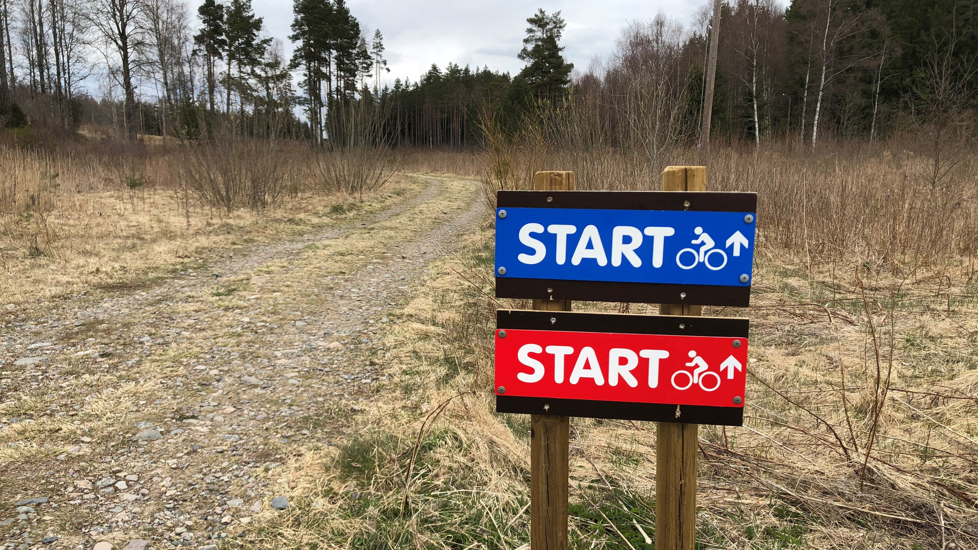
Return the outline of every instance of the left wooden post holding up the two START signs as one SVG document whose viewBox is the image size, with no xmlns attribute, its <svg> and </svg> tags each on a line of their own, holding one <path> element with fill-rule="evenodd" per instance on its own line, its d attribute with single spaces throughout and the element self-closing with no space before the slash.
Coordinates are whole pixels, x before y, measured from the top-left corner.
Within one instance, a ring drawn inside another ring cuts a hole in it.
<svg viewBox="0 0 978 550">
<path fill-rule="evenodd" d="M 533 175 L 537 191 L 572 191 L 574 172 Z M 570 311 L 569 299 L 534 299 L 533 309 Z M 530 415 L 530 549 L 567 550 L 570 419 Z"/>
</svg>

